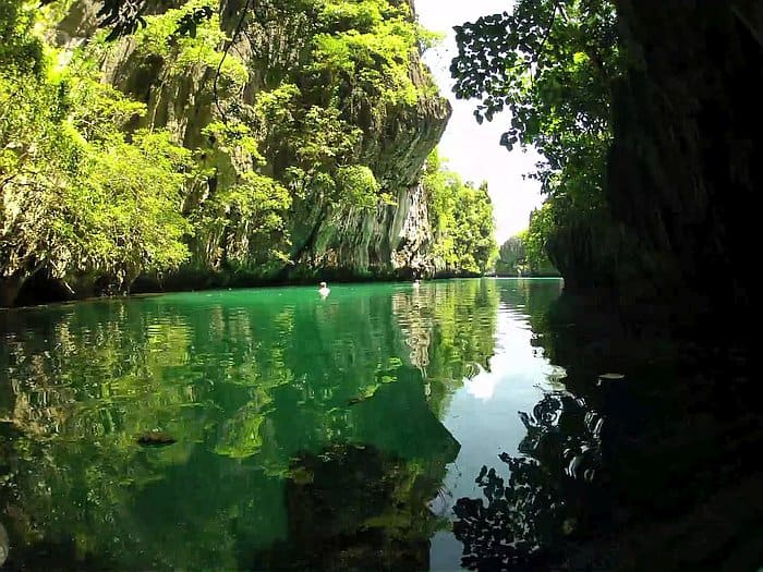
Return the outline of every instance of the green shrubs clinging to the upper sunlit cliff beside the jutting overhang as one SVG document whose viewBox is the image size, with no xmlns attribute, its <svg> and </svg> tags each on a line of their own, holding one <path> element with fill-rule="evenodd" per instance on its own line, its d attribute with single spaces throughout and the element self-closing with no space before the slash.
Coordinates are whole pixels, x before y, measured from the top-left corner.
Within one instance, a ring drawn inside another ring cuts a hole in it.
<svg viewBox="0 0 763 572">
<path fill-rule="evenodd" d="M 252 15 L 252 25 L 266 34 L 268 17 L 296 13 L 308 20 L 299 28 L 306 37 L 292 38 L 282 51 L 298 56 L 280 73 L 277 58 L 262 56 L 274 73 L 253 104 L 272 175 L 295 199 L 324 208 L 389 203 L 393 190 L 383 188 L 363 156 L 364 130 L 382 124 L 389 106 L 413 106 L 425 96 L 409 66 L 420 40 L 428 39 L 408 4 L 389 0 L 272 0 Z M 359 121 L 360 112 L 371 117 Z"/>
</svg>

